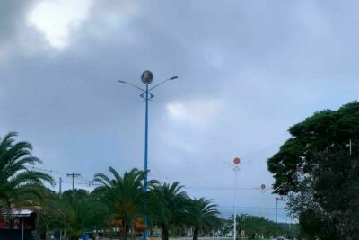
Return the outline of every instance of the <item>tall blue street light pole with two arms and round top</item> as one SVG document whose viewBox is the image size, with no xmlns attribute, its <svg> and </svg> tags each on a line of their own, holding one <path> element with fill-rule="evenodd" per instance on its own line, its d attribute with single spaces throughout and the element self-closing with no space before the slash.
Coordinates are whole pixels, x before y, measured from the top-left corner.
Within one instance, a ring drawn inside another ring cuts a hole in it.
<svg viewBox="0 0 359 240">
<path fill-rule="evenodd" d="M 145 84 L 145 90 L 135 84 L 128 83 L 126 81 L 118 80 L 121 84 L 128 84 L 130 86 L 135 87 L 136 89 L 140 90 L 142 93 L 140 94 L 140 97 L 144 99 L 145 102 L 145 110 L 144 110 L 144 192 L 147 192 L 147 171 L 148 171 L 148 101 L 153 99 L 154 95 L 151 93 L 151 90 L 158 87 L 161 84 L 164 84 L 165 82 L 169 80 L 177 79 L 178 76 L 172 76 L 166 80 L 163 80 L 160 84 L 156 84 L 150 89 L 148 88 L 148 85 L 152 83 L 153 81 L 153 73 L 150 71 L 144 71 L 141 75 L 141 81 Z M 145 203 L 144 203 L 144 209 L 145 209 Z M 144 215 L 144 225 L 147 226 L 147 217 Z M 147 239 L 147 231 L 144 230 L 144 240 Z"/>
</svg>

